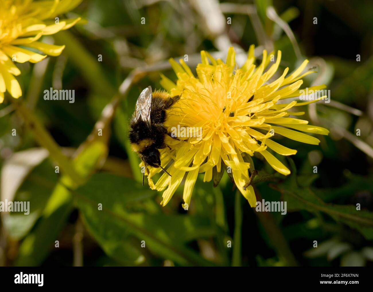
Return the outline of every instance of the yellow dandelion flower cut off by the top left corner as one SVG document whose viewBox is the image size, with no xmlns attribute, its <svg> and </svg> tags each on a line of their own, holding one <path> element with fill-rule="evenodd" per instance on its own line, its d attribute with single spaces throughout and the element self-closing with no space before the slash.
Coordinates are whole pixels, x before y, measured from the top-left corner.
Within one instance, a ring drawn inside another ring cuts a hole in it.
<svg viewBox="0 0 373 292">
<path fill-rule="evenodd" d="M 21 87 L 14 77 L 21 74 L 21 71 L 13 62 L 36 63 L 47 55 L 61 54 L 65 46 L 44 44 L 38 39 L 75 25 L 80 17 L 59 19 L 57 16 L 75 8 L 81 1 L 0 0 L 0 103 L 6 91 L 15 98 L 22 95 Z"/>
</svg>

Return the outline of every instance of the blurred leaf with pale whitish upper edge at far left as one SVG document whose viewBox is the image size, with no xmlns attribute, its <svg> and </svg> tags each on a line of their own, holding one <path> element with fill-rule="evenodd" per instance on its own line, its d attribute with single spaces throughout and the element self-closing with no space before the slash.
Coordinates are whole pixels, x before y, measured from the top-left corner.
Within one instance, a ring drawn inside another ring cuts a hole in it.
<svg viewBox="0 0 373 292">
<path fill-rule="evenodd" d="M 29 202 L 29 214 L 9 212 L 2 217 L 13 239 L 31 230 L 50 196 L 50 188 L 57 182 L 57 174 L 46 157 L 48 151 L 44 148 L 19 151 L 1 169 L 1 201 Z"/>
</svg>

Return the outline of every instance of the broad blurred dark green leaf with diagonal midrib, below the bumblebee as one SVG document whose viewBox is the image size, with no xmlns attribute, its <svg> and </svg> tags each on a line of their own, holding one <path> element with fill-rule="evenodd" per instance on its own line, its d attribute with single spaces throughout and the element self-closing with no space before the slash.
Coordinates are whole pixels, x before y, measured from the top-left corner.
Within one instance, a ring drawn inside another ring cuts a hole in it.
<svg viewBox="0 0 373 292">
<path fill-rule="evenodd" d="M 129 258 L 128 246 L 121 248 L 117 244 L 134 236 L 137 247 L 144 240 L 146 248 L 164 259 L 186 265 L 212 264 L 185 246 L 188 241 L 215 234 L 209 220 L 189 215 L 130 212 L 133 202 L 149 199 L 155 194 L 140 183 L 98 173 L 74 194 L 88 230 L 104 251 L 116 260 L 124 262 L 136 258 Z M 98 208 L 100 203 L 102 210 Z"/>
</svg>

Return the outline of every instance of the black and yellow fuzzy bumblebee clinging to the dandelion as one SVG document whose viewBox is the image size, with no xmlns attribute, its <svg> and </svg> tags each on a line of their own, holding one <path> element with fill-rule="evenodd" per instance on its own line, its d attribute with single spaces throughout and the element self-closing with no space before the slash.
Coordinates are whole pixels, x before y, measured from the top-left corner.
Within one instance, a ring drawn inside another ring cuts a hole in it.
<svg viewBox="0 0 373 292">
<path fill-rule="evenodd" d="M 171 97 L 166 92 L 152 92 L 149 86 L 140 93 L 130 122 L 129 141 L 132 149 L 139 154 L 145 167 L 160 167 L 169 176 L 171 175 L 161 166 L 159 149 L 167 147 L 164 142 L 166 135 L 172 137 L 164 122 L 166 110 L 178 100 L 178 95 Z M 142 173 L 142 185 L 144 185 L 144 173 Z"/>
</svg>

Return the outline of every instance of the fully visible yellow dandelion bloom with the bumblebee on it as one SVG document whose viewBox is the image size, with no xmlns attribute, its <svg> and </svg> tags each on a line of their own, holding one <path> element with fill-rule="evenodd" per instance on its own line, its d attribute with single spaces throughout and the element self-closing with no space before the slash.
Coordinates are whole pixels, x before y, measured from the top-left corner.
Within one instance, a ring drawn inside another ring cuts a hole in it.
<svg viewBox="0 0 373 292">
<path fill-rule="evenodd" d="M 327 135 L 329 131 L 308 125 L 308 121 L 289 117 L 304 113 L 290 112 L 289 109 L 307 105 L 323 97 L 302 103 L 295 100 L 279 103 L 279 100 L 300 96 L 300 86 L 303 83 L 301 78 L 313 73 L 307 71 L 300 75 L 308 63 L 305 60 L 288 77 L 286 75 L 289 68 L 286 68 L 278 79 L 268 82 L 279 67 L 281 51 L 278 51 L 276 62 L 266 71 L 270 57 L 264 50 L 263 60 L 256 67 L 254 46 L 250 46 L 247 61 L 237 70 L 234 70 L 236 63 L 233 48 L 229 49 L 225 63 L 220 59 L 215 60 L 205 51 L 201 52 L 201 59 L 202 63 L 196 68 L 197 77 L 182 59 L 181 65 L 170 59 L 178 77 L 176 84 L 162 75 L 162 86 L 172 96 L 180 96 L 179 102 L 168 112 L 166 126 L 170 129 L 179 125 L 189 131 L 201 128 L 202 135 L 200 138 L 189 136 L 184 141 L 169 138 L 170 149 L 165 148 L 160 152 L 162 167 L 167 168 L 172 177 L 163 173 L 154 184 L 152 176 L 161 169 L 151 168 L 148 173 L 149 185 L 159 191 L 167 188 L 163 192 L 161 203 L 164 206 L 187 173 L 183 200 L 189 206 L 198 173 L 204 173 L 204 182 L 209 182 L 214 167 L 218 172 L 223 171 L 223 161 L 225 167 L 231 168 L 234 182 L 242 195 L 251 206 L 255 206 L 253 187 L 250 185 L 244 189 L 249 180 L 250 168 L 245 155 L 253 156 L 254 152 L 258 152 L 273 169 L 284 175 L 290 174 L 289 169 L 268 149 L 280 155 L 292 155 L 297 150 L 285 147 L 271 138 L 276 133 L 295 141 L 319 144 L 319 139 L 301 132 Z M 314 86 L 308 90 L 323 88 L 324 85 Z"/>
</svg>

